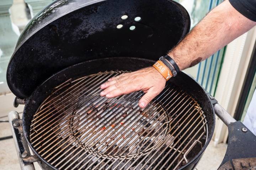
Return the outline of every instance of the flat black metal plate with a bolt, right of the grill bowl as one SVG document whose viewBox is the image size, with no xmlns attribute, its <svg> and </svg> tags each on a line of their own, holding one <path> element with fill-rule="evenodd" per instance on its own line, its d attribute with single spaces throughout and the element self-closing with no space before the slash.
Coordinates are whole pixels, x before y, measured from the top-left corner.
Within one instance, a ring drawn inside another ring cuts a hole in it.
<svg viewBox="0 0 256 170">
<path fill-rule="evenodd" d="M 256 158 L 256 136 L 247 128 L 243 132 L 242 128 L 246 126 L 241 121 L 228 125 L 228 148 L 220 166 L 232 159 Z"/>
</svg>

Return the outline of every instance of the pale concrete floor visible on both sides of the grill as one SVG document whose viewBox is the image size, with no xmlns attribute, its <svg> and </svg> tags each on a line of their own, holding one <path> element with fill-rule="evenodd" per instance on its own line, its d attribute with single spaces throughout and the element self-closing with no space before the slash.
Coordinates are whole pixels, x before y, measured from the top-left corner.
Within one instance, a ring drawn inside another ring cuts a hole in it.
<svg viewBox="0 0 256 170">
<path fill-rule="evenodd" d="M 0 120 L 7 120 L 8 118 L 2 118 Z M 11 130 L 9 123 L 0 123 L 0 137 L 10 136 Z M 211 141 L 207 147 L 204 155 L 197 166 L 197 170 L 216 170 L 225 155 L 227 145 L 220 143 L 216 147 L 214 142 Z M 14 146 L 13 139 L 7 139 L 0 141 L 0 165 L 1 170 L 19 170 L 17 153 Z M 39 166 L 36 166 L 36 170 L 39 170 Z"/>
</svg>

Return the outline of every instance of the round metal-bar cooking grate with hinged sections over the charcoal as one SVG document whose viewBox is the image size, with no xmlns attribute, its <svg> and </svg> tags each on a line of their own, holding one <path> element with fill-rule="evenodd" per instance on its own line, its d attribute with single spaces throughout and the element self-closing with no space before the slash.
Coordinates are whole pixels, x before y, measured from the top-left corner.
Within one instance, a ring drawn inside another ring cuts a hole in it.
<svg viewBox="0 0 256 170">
<path fill-rule="evenodd" d="M 101 97 L 100 84 L 123 71 L 69 79 L 33 115 L 30 141 L 62 170 L 178 169 L 207 141 L 207 120 L 185 91 L 167 85 L 144 109 L 143 92 Z"/>
</svg>

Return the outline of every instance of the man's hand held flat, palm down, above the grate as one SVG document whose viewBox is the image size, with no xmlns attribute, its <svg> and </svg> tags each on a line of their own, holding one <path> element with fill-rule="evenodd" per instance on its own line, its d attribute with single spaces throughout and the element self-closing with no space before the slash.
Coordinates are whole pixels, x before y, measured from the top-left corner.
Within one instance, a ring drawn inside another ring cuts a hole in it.
<svg viewBox="0 0 256 170">
<path fill-rule="evenodd" d="M 154 67 L 143 68 L 131 73 L 123 73 L 108 79 L 100 87 L 101 96 L 112 98 L 142 90 L 145 95 L 139 100 L 139 107 L 145 108 L 165 87 L 165 78 Z"/>
</svg>

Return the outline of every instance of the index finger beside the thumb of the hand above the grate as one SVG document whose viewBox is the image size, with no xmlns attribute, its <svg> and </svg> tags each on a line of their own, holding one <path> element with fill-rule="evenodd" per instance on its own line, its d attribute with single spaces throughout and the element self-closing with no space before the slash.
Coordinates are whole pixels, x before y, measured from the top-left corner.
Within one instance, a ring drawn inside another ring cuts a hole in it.
<svg viewBox="0 0 256 170">
<path fill-rule="evenodd" d="M 138 91 L 136 86 L 130 85 L 130 84 L 125 84 L 115 90 L 112 90 L 108 94 L 106 94 L 106 97 L 107 98 L 117 97 L 117 96 L 129 94 L 134 91 Z"/>
</svg>

